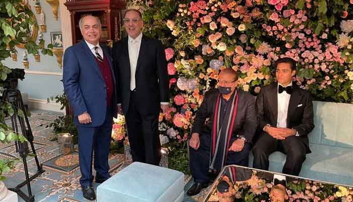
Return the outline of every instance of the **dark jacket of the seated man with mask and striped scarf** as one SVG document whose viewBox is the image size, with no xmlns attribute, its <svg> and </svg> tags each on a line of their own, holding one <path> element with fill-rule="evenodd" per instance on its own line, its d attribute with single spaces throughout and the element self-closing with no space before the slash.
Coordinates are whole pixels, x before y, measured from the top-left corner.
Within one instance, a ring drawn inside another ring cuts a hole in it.
<svg viewBox="0 0 353 202">
<path fill-rule="evenodd" d="M 238 89 L 238 110 L 234 122 L 232 137 L 243 135 L 251 142 L 256 131 L 255 97 L 250 93 Z M 211 89 L 205 93 L 204 100 L 196 112 L 192 133 L 211 133 L 213 126 L 214 110 L 218 89 Z M 205 124 L 206 118 L 209 121 Z"/>
</svg>

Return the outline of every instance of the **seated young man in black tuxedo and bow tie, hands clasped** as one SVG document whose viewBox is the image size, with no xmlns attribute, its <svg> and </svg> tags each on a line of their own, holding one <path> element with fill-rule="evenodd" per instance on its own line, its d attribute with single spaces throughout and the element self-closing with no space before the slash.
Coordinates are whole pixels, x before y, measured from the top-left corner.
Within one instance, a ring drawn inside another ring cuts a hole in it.
<svg viewBox="0 0 353 202">
<path fill-rule="evenodd" d="M 282 173 L 299 175 L 310 153 L 308 134 L 314 128 L 313 102 L 308 91 L 292 84 L 296 62 L 276 61 L 277 82 L 262 88 L 256 100 L 258 130 L 253 148 L 253 167 L 268 170 L 268 157 L 274 151 L 286 154 Z"/>
</svg>

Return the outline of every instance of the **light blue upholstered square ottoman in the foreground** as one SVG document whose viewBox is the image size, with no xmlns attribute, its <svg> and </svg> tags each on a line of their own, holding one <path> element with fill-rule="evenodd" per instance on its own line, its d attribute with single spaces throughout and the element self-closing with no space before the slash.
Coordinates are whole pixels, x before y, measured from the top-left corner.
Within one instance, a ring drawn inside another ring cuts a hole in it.
<svg viewBox="0 0 353 202">
<path fill-rule="evenodd" d="M 184 174 L 134 162 L 97 187 L 97 202 L 179 202 L 184 200 Z"/>
</svg>

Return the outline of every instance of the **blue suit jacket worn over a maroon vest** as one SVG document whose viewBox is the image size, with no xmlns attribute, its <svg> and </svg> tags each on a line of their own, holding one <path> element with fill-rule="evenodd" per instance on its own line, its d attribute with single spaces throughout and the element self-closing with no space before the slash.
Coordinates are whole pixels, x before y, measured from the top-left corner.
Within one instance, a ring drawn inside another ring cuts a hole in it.
<svg viewBox="0 0 353 202">
<path fill-rule="evenodd" d="M 114 71 L 109 55 L 109 49 L 104 44 L 99 44 L 104 57 L 109 61 L 114 82 L 113 90 L 113 116 L 116 117 L 116 84 Z M 64 54 L 63 82 L 66 95 L 74 112 L 76 125 L 96 127 L 103 124 L 107 109 L 107 94 L 105 80 L 99 69 L 95 56 L 89 49 L 85 40 L 70 46 Z M 90 124 L 80 124 L 78 116 L 88 111 L 92 118 Z"/>
</svg>

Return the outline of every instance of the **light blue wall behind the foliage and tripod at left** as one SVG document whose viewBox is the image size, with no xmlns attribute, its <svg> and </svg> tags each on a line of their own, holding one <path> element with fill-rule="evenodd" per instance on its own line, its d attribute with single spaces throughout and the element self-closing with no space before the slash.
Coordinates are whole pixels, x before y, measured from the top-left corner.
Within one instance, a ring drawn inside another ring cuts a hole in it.
<svg viewBox="0 0 353 202">
<path fill-rule="evenodd" d="M 34 3 L 35 1 L 28 1 L 31 5 L 32 11 L 37 18 L 38 24 L 40 24 L 40 15 L 35 13 Z M 55 20 L 54 15 L 51 11 L 50 5 L 45 0 L 40 0 L 40 6 L 45 14 L 46 32 L 43 32 L 43 38 L 45 40 L 45 47 L 51 43 L 50 32 L 60 32 L 60 10 L 58 11 L 58 19 Z M 17 48 L 17 61 L 13 61 L 12 58 L 8 58 L 4 61 L 4 65 L 9 68 L 24 68 L 22 64 L 22 54 L 25 51 L 24 48 Z M 63 70 L 58 67 L 55 56 L 43 56 L 40 53 L 40 62 L 35 62 L 33 55 L 28 55 L 29 71 L 43 71 L 43 72 L 55 72 L 62 74 Z M 28 97 L 36 99 L 47 99 L 50 96 L 60 94 L 63 92 L 63 85 L 60 81 L 62 76 L 57 75 L 39 75 L 30 74 L 25 75 L 23 81 L 19 81 L 19 89 L 21 92 L 28 93 Z"/>
</svg>

